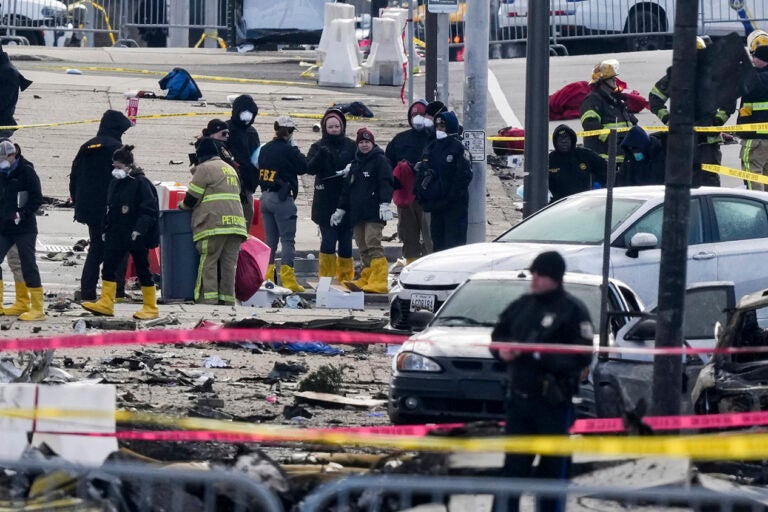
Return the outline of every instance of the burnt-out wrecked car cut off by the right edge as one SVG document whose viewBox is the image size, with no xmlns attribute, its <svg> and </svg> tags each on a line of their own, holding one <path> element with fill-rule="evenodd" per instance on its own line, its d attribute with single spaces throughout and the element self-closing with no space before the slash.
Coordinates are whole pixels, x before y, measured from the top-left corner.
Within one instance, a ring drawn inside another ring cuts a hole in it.
<svg viewBox="0 0 768 512">
<path fill-rule="evenodd" d="M 718 349 L 768 346 L 762 318 L 768 312 L 768 290 L 742 297 L 724 328 L 718 326 Z M 691 393 L 698 414 L 768 410 L 768 353 L 745 350 L 715 353 L 702 368 Z"/>
</svg>

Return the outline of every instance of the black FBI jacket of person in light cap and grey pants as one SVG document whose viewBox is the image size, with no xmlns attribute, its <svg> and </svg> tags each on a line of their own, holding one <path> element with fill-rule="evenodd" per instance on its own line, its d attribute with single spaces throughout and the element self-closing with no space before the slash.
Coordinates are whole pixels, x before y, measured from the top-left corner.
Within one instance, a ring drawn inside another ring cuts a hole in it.
<svg viewBox="0 0 768 512">
<path fill-rule="evenodd" d="M 285 139 L 273 139 L 259 151 L 259 186 L 262 191 L 299 195 L 299 175 L 307 173 L 307 158 Z M 287 196 L 286 196 L 287 197 Z"/>
</svg>

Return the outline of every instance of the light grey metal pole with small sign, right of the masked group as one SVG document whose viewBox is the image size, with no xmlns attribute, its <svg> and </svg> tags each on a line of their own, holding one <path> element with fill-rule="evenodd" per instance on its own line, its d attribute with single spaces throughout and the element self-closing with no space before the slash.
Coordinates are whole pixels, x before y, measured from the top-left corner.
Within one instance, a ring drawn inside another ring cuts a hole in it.
<svg viewBox="0 0 768 512">
<path fill-rule="evenodd" d="M 488 107 L 488 0 L 467 0 L 464 20 L 464 137 L 472 154 L 467 242 L 485 242 L 485 125 Z M 470 138 L 471 136 L 471 138 Z M 482 144 L 481 144 L 482 141 Z M 482 160 L 471 151 L 477 143 Z M 482 145 L 482 149 L 480 149 Z"/>
</svg>

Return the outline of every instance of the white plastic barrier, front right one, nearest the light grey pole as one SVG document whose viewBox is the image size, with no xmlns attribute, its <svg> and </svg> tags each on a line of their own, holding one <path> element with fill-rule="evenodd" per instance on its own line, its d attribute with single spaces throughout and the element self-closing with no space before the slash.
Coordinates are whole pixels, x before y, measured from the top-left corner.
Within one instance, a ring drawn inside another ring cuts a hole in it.
<svg viewBox="0 0 768 512">
<path fill-rule="evenodd" d="M 402 29 L 394 18 L 374 18 L 371 52 L 363 64 L 366 82 L 372 85 L 403 85 Z"/>
</svg>

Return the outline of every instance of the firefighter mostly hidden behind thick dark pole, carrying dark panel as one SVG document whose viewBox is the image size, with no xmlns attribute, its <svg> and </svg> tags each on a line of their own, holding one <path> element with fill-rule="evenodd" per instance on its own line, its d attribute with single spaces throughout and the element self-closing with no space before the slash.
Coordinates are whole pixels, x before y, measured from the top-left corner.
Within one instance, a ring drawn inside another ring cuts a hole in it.
<svg viewBox="0 0 768 512">
<path fill-rule="evenodd" d="M 696 37 L 697 55 L 703 58 L 707 50 L 707 42 L 703 37 Z M 648 95 L 649 109 L 665 125 L 669 124 L 669 110 L 667 102 L 669 101 L 670 80 L 672 76 L 672 67 L 667 68 L 667 72 L 659 78 L 654 84 L 651 93 Z M 695 126 L 722 126 L 731 117 L 735 110 L 735 103 L 715 108 L 706 113 L 703 117 L 694 120 Z M 723 143 L 723 137 L 719 133 L 700 133 L 696 137 L 696 147 L 693 153 L 693 176 L 691 185 L 699 187 L 701 185 L 719 187 L 720 176 L 711 172 L 701 170 L 702 164 L 720 165 L 723 154 L 720 151 L 720 145 Z"/>
</svg>

